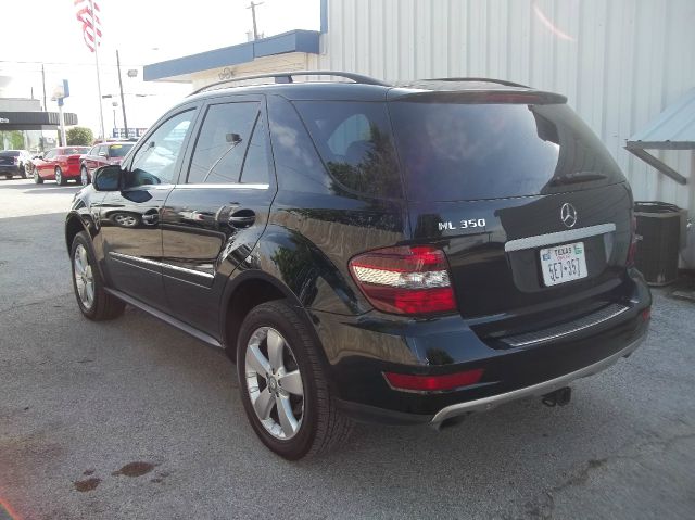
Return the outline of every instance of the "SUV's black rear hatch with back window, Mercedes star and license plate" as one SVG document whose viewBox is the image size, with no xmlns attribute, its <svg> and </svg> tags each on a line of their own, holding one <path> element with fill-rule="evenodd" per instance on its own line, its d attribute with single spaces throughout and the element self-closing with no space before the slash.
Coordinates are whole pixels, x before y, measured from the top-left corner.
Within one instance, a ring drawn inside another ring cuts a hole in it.
<svg viewBox="0 0 695 520">
<path fill-rule="evenodd" d="M 624 296 L 632 194 L 564 101 L 515 89 L 389 102 L 413 240 L 441 244 L 462 316 L 486 333 Z"/>
</svg>

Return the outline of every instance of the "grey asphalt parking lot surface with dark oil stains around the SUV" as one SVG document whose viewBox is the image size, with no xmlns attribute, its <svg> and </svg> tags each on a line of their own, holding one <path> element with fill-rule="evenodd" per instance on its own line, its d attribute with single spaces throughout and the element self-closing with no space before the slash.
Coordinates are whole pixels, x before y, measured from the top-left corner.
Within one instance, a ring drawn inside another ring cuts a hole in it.
<svg viewBox="0 0 695 520">
<path fill-rule="evenodd" d="M 128 308 L 84 319 L 76 187 L 0 181 L 0 518 L 693 518 L 695 304 L 655 292 L 628 359 L 440 432 L 358 424 L 332 455 L 256 440 L 222 352 Z"/>
</svg>

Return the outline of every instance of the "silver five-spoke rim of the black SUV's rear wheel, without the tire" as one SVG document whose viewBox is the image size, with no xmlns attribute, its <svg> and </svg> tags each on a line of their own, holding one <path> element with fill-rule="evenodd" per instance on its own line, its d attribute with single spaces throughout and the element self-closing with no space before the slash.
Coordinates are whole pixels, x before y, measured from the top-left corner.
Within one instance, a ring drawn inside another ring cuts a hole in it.
<svg viewBox="0 0 695 520">
<path fill-rule="evenodd" d="M 271 327 L 256 329 L 247 344 L 247 389 L 265 430 L 287 441 L 304 419 L 304 384 L 294 353 Z"/>
</svg>

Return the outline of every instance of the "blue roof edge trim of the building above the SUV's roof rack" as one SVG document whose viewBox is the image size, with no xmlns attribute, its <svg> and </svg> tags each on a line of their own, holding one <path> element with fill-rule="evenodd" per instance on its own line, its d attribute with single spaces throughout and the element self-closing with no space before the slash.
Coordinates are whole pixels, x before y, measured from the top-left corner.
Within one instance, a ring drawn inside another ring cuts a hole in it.
<svg viewBox="0 0 695 520">
<path fill-rule="evenodd" d="M 142 78 L 146 81 L 164 79 L 184 74 L 208 71 L 229 65 L 248 63 L 254 58 L 285 54 L 287 52 L 307 52 L 318 54 L 319 33 L 316 30 L 290 30 L 281 35 L 249 41 L 237 46 L 201 52 L 190 56 L 177 58 L 160 63 L 144 65 Z"/>
</svg>

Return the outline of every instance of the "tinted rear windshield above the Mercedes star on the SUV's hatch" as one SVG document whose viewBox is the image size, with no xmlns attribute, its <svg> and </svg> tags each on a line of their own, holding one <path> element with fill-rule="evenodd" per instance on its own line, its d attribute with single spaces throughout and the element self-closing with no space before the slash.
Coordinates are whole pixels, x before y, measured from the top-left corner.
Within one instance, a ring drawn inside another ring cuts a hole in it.
<svg viewBox="0 0 695 520">
<path fill-rule="evenodd" d="M 390 103 L 409 200 L 532 195 L 623 180 L 566 105 Z"/>
</svg>

